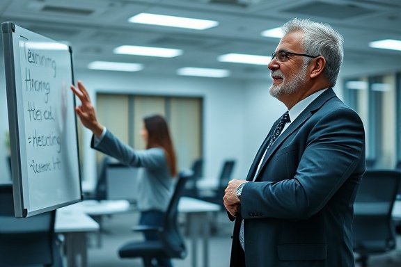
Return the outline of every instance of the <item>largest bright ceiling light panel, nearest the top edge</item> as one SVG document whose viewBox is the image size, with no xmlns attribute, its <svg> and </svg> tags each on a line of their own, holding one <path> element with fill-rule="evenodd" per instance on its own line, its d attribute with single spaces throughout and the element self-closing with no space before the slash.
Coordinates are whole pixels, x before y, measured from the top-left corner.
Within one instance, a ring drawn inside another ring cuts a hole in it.
<svg viewBox="0 0 401 267">
<path fill-rule="evenodd" d="M 174 16 L 156 15 L 150 13 L 141 13 L 135 15 L 134 17 L 130 17 L 128 19 L 128 22 L 187 28 L 194 30 L 205 30 L 219 25 L 219 22 L 216 22 L 214 20 L 191 19 L 189 17 L 174 17 Z"/>
</svg>

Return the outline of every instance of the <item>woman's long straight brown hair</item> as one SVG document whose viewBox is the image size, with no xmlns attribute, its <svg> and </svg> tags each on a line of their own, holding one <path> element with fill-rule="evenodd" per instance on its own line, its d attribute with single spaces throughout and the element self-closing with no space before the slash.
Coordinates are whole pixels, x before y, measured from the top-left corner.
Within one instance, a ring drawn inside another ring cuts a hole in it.
<svg viewBox="0 0 401 267">
<path fill-rule="evenodd" d="M 143 122 L 145 123 L 146 131 L 148 131 L 146 149 L 162 147 L 164 152 L 166 152 L 170 174 L 172 177 L 175 177 L 177 175 L 177 161 L 166 120 L 161 115 L 151 115 L 144 118 Z"/>
</svg>

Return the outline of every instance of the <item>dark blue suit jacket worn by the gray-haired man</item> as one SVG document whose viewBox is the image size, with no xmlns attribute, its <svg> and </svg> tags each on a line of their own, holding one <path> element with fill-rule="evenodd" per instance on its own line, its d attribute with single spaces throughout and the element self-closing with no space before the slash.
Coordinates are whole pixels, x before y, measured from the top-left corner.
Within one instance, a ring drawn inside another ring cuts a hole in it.
<svg viewBox="0 0 401 267">
<path fill-rule="evenodd" d="M 255 156 L 249 181 L 272 131 Z M 230 266 L 354 266 L 353 204 L 363 172 L 361 119 L 329 88 L 272 145 L 255 182 L 245 184 Z M 238 238 L 242 219 L 245 252 Z"/>
</svg>

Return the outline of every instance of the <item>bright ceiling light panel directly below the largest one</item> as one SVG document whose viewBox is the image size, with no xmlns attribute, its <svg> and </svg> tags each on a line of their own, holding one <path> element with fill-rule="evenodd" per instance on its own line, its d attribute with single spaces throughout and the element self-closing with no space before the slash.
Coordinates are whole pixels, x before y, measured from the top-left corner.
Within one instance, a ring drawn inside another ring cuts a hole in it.
<svg viewBox="0 0 401 267">
<path fill-rule="evenodd" d="M 114 54 L 127 54 L 138 56 L 159 56 L 161 58 L 173 58 L 182 55 L 181 49 L 160 47 L 136 47 L 134 45 L 122 45 L 113 50 Z"/>
</svg>

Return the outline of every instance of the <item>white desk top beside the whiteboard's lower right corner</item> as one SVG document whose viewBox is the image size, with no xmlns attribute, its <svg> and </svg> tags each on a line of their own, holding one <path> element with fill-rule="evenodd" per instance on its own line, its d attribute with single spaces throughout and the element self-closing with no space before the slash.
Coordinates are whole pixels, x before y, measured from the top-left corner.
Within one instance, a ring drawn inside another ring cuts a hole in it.
<svg viewBox="0 0 401 267">
<path fill-rule="evenodd" d="M 63 207 L 56 211 L 54 231 L 65 232 L 93 232 L 99 230 L 99 224 L 90 216 L 80 211 L 72 211 Z"/>
</svg>

